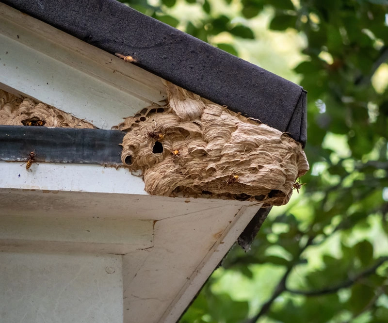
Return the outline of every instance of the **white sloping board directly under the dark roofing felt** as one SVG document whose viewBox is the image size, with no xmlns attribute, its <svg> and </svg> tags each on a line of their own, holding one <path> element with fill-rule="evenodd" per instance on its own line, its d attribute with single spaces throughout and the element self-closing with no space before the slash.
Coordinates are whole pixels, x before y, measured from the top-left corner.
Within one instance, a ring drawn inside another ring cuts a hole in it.
<svg viewBox="0 0 388 323">
<path fill-rule="evenodd" d="M 3 3 L 0 48 L 0 88 L 100 129 L 167 97 L 160 77 Z"/>
</svg>

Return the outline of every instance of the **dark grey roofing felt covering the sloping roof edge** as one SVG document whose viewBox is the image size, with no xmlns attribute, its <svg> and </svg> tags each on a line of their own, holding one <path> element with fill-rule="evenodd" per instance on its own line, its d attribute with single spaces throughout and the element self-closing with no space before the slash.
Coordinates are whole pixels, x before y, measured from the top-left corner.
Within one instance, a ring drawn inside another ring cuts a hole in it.
<svg viewBox="0 0 388 323">
<path fill-rule="evenodd" d="M 5 3 L 306 144 L 307 95 L 299 85 L 145 16 L 116 0 Z"/>
</svg>

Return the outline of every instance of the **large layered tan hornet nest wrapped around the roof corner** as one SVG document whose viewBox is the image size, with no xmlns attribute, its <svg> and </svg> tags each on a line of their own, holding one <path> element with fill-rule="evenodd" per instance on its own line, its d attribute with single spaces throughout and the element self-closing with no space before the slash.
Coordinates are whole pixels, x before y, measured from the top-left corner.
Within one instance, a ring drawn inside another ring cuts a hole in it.
<svg viewBox="0 0 388 323">
<path fill-rule="evenodd" d="M 308 170 L 302 145 L 258 120 L 166 82 L 168 105 L 151 106 L 116 128 L 121 159 L 141 171 L 146 191 L 286 204 Z"/>
</svg>

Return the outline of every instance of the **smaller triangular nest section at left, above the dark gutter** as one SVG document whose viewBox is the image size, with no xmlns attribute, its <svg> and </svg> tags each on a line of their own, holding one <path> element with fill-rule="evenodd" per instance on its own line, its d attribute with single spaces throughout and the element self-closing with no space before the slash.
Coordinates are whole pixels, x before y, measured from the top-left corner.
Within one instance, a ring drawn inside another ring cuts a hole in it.
<svg viewBox="0 0 388 323">
<path fill-rule="evenodd" d="M 70 113 L 30 98 L 21 99 L 3 90 L 0 90 L 0 125 L 95 128 Z"/>
</svg>

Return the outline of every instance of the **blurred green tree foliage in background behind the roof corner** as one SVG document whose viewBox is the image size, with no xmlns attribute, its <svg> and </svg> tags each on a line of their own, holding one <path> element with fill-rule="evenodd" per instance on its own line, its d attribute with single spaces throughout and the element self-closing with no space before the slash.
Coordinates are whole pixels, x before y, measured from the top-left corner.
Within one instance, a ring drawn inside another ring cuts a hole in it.
<svg viewBox="0 0 388 323">
<path fill-rule="evenodd" d="M 259 40 L 264 12 L 270 30 L 305 39 L 307 185 L 249 252 L 229 252 L 180 322 L 388 322 L 388 0 L 123 2 L 233 55 L 236 39 Z"/>
</svg>

